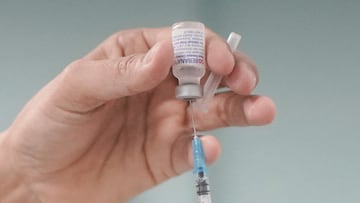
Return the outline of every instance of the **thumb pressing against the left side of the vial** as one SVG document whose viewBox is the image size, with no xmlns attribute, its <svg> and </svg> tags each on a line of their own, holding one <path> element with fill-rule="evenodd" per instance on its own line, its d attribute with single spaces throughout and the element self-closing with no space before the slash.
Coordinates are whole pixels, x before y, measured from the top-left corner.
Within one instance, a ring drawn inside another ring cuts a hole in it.
<svg viewBox="0 0 360 203">
<path fill-rule="evenodd" d="M 106 101 L 147 91 L 166 78 L 172 63 L 171 43 L 167 41 L 156 44 L 146 54 L 75 61 L 60 75 L 57 105 L 77 112 L 89 111 Z"/>
</svg>

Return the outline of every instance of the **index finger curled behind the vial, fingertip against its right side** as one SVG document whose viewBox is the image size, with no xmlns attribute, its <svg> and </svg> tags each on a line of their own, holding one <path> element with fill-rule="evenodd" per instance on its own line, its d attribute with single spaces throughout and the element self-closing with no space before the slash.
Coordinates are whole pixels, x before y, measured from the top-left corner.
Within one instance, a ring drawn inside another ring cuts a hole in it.
<svg viewBox="0 0 360 203">
<path fill-rule="evenodd" d="M 235 62 L 225 40 L 208 28 L 205 32 L 209 69 L 217 74 L 229 74 Z M 124 30 L 111 35 L 84 58 L 103 60 L 145 53 L 156 43 L 164 40 L 171 43 L 171 27 Z"/>
</svg>

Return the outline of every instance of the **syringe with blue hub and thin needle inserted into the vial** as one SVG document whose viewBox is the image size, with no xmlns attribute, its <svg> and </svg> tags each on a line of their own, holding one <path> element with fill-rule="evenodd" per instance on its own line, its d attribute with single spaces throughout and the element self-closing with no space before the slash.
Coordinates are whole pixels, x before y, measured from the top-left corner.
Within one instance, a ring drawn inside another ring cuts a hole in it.
<svg viewBox="0 0 360 203">
<path fill-rule="evenodd" d="M 192 151 L 194 159 L 194 174 L 196 176 L 196 194 L 198 196 L 198 203 L 211 203 L 210 196 L 210 185 L 209 178 L 207 177 L 207 167 L 205 160 L 205 153 L 202 147 L 201 139 L 196 131 L 195 119 L 194 119 L 194 109 L 193 103 L 189 100 L 189 105 L 191 108 L 191 120 L 193 125 L 193 141 L 192 141 Z"/>
</svg>

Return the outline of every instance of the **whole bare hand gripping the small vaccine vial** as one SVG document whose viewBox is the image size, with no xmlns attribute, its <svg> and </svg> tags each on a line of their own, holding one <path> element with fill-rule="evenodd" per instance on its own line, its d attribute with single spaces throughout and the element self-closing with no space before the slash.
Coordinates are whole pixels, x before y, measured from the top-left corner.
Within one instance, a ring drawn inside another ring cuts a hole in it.
<svg viewBox="0 0 360 203">
<path fill-rule="evenodd" d="M 258 74 L 249 57 L 209 30 L 206 47 L 208 67 L 233 92 L 196 112 L 198 130 L 270 123 L 273 102 L 250 95 Z M 0 167 L 35 202 L 126 201 L 189 170 L 190 110 L 175 98 L 172 63 L 170 28 L 109 37 L 30 100 L 0 136 Z M 220 144 L 202 140 L 212 163 Z"/>
</svg>

